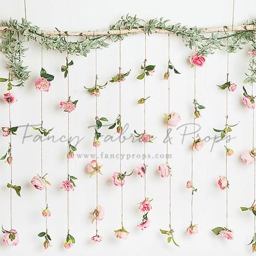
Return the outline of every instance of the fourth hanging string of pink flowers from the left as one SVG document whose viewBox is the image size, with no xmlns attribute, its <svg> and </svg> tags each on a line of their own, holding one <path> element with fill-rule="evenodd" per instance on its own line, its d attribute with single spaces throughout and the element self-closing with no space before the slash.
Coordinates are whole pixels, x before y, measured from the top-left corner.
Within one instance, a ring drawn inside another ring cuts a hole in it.
<svg viewBox="0 0 256 256">
<path fill-rule="evenodd" d="M 95 84 L 93 88 L 86 88 L 89 93 L 92 93 L 95 96 L 95 129 L 99 129 L 102 126 L 101 121 L 107 121 L 106 118 L 98 118 L 98 97 L 100 96 L 99 89 L 103 89 L 106 87 L 107 82 L 104 84 L 104 86 L 98 86 L 97 85 L 98 75 L 97 75 L 97 49 L 95 49 Z M 95 130 L 96 132 L 96 130 Z M 100 135 L 98 136 L 97 140 L 99 139 Z M 99 142 L 99 140 L 98 140 Z M 105 209 L 99 204 L 99 174 L 101 173 L 101 165 L 98 162 L 98 146 L 100 144 L 95 143 L 94 139 L 94 147 L 95 147 L 95 159 L 92 160 L 89 165 L 87 166 L 87 170 L 90 174 L 90 177 L 92 177 L 94 174 L 96 175 L 96 207 L 93 212 L 90 214 L 92 215 L 92 223 L 95 220 L 95 235 L 92 236 L 91 241 L 94 243 L 99 243 L 103 240 L 103 237 L 98 234 L 98 221 L 103 220 Z"/>
</svg>

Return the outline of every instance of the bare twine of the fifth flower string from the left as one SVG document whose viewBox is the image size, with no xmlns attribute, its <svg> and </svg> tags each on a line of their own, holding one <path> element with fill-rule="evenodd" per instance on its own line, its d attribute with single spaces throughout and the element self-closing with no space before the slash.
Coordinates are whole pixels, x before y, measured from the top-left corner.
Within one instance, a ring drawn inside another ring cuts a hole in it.
<svg viewBox="0 0 256 256">
<path fill-rule="evenodd" d="M 121 30 L 120 30 L 120 36 L 119 36 L 119 74 L 121 74 Z M 121 117 L 121 80 L 119 81 L 119 115 Z M 121 133 L 122 134 L 122 133 Z M 122 173 L 122 160 L 121 160 L 121 152 L 122 152 L 122 147 L 121 147 L 121 134 L 120 134 L 120 139 L 119 139 L 119 164 L 120 164 L 120 173 Z M 123 186 L 121 186 L 121 224 L 123 226 Z"/>
</svg>

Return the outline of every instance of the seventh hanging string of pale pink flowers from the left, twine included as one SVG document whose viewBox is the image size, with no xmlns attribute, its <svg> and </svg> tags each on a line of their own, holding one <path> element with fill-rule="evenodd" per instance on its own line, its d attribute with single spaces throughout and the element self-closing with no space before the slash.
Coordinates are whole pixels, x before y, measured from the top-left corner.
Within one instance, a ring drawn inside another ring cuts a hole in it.
<svg viewBox="0 0 256 256">
<path fill-rule="evenodd" d="M 180 74 L 180 72 L 175 69 L 173 64 L 170 62 L 170 34 L 168 34 L 168 64 L 167 64 L 167 71 L 164 73 L 163 79 L 167 80 L 167 101 L 168 101 L 168 114 L 164 115 L 166 120 L 166 137 L 169 134 L 169 127 L 175 127 L 180 121 L 180 116 L 176 112 L 170 113 L 170 72 L 174 72 L 176 74 Z M 170 113 L 170 114 L 169 114 Z M 169 145 L 168 141 L 166 141 L 166 162 L 160 164 L 158 170 L 162 178 L 169 178 L 169 229 L 163 230 L 160 229 L 160 232 L 164 235 L 167 235 L 167 242 L 170 243 L 171 241 L 175 244 L 175 246 L 179 246 L 174 240 L 174 230 L 172 229 L 172 170 L 169 166 Z"/>
</svg>

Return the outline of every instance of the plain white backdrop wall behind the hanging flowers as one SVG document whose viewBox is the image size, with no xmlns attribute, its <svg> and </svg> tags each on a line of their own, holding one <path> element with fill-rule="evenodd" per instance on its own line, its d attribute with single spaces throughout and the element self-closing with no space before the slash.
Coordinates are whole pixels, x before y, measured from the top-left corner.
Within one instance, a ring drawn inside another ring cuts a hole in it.
<svg viewBox="0 0 256 256">
<path fill-rule="evenodd" d="M 235 1 L 235 24 L 252 20 L 255 15 L 256 4 L 253 0 L 246 3 Z M 21 19 L 24 17 L 23 1 L 2 1 L 1 19 L 10 17 Z M 27 0 L 27 19 L 45 30 L 105 30 L 127 13 L 138 14 L 145 20 L 151 18 L 168 18 L 174 24 L 181 22 L 189 26 L 223 26 L 231 25 L 232 1 L 214 1 L 206 4 L 205 1 L 32 1 Z M 122 42 L 123 71 L 132 69 L 127 81 L 122 84 L 123 123 L 129 124 L 125 136 L 129 137 L 133 129 L 143 130 L 143 106 L 136 105 L 136 100 L 143 97 L 143 82 L 136 80 L 140 72 L 140 64 L 144 60 L 143 35 L 130 36 Z M 173 75 L 171 83 L 171 109 L 179 112 L 180 126 L 191 123 L 193 120 L 193 77 L 194 71 L 188 63 L 188 56 L 193 52 L 184 47 L 180 39 L 170 37 L 171 61 L 182 73 Z M 40 93 L 36 92 L 34 82 L 41 69 L 41 51 L 39 45 L 29 43 L 25 64 L 31 70 L 31 77 L 25 88 L 14 88 L 18 102 L 12 106 L 13 125 L 26 126 L 40 122 Z M 252 112 L 243 105 L 242 81 L 247 67 L 247 52 L 249 46 L 236 54 L 230 54 L 230 78 L 238 85 L 229 98 L 230 123 L 240 121 L 234 128 L 235 137 L 230 147 L 235 155 L 229 158 L 229 227 L 234 230 L 234 241 L 223 240 L 214 236 L 211 229 L 225 225 L 225 192 L 217 187 L 219 175 L 225 173 L 224 143 L 214 143 L 211 139 L 204 149 L 195 154 L 194 183 L 198 188 L 195 195 L 194 222 L 198 224 L 199 233 L 187 237 L 186 227 L 190 223 L 190 191 L 185 183 L 190 179 L 191 155 L 189 147 L 192 135 L 187 135 L 182 144 L 184 127 L 173 129 L 170 164 L 173 170 L 172 187 L 172 223 L 175 230 L 175 240 L 180 248 L 174 244 L 167 244 L 166 236 L 158 231 L 168 227 L 168 181 L 158 174 L 158 164 L 164 162 L 157 159 L 156 154 L 164 154 L 166 145 L 163 139 L 166 127 L 163 123 L 163 114 L 167 111 L 167 82 L 162 79 L 167 65 L 167 36 L 152 35 L 147 38 L 147 59 L 149 64 L 156 65 L 156 73 L 147 79 L 147 132 L 154 134 L 157 139 L 147 145 L 147 153 L 151 159 L 147 160 L 148 167 L 148 196 L 153 198 L 150 228 L 139 230 L 136 225 L 141 220 L 138 203 L 143 200 L 143 180 L 138 175 L 127 178 L 124 186 L 124 225 L 130 236 L 127 241 L 117 241 L 113 230 L 120 227 L 120 188 L 111 183 L 111 174 L 118 171 L 118 159 L 100 159 L 104 164 L 104 175 L 100 177 L 100 204 L 105 207 L 105 219 L 99 222 L 100 235 L 104 237 L 101 244 L 92 244 L 89 238 L 94 235 L 94 225 L 90 224 L 89 212 L 95 207 L 95 177 L 89 178 L 85 168 L 91 158 L 82 157 L 71 162 L 70 173 L 78 177 L 77 189 L 70 193 L 70 229 L 77 242 L 75 247 L 67 251 L 62 247 L 66 237 L 66 193 L 59 189 L 61 181 L 66 177 L 66 143 L 46 141 L 44 143 L 44 169 L 52 186 L 48 189 L 49 208 L 52 216 L 49 218 L 49 234 L 52 236 L 52 248 L 44 252 L 43 238 L 37 234 L 44 230 L 44 219 L 41 209 L 44 207 L 43 192 L 36 191 L 30 184 L 33 175 L 40 172 L 40 144 L 33 142 L 37 135 L 31 128 L 27 129 L 28 138 L 23 138 L 25 127 L 18 129 L 18 135 L 13 138 L 13 182 L 22 186 L 21 198 L 13 198 L 13 226 L 18 230 L 20 243 L 16 247 L 6 247 L 0 243 L 1 255 L 249 255 L 251 247 L 246 244 L 253 235 L 253 216 L 251 213 L 240 211 L 240 206 L 249 206 L 253 201 L 253 166 L 244 166 L 240 160 L 243 150 L 252 146 Z M 44 51 L 44 68 L 55 75 L 49 93 L 44 94 L 44 126 L 54 127 L 52 135 L 57 140 L 66 135 L 66 113 L 59 109 L 59 102 L 66 100 L 67 81 L 60 72 L 60 66 L 65 63 L 65 54 Z M 82 141 L 78 144 L 78 153 L 94 153 L 92 147 L 94 124 L 94 100 L 83 86 L 94 83 L 94 54 L 87 58 L 72 56 L 75 63 L 70 68 L 70 86 L 72 99 L 78 99 L 77 109 L 71 113 L 71 135 L 79 136 Z M 0 55 L 0 74 L 8 74 L 3 54 Z M 102 84 L 118 71 L 118 44 L 111 43 L 109 48 L 98 53 L 98 75 Z M 202 138 L 216 135 L 213 127 L 221 128 L 225 122 L 225 93 L 216 85 L 224 83 L 226 79 L 226 54 L 217 52 L 208 56 L 206 65 L 197 69 L 197 100 L 206 106 L 202 110 L 199 132 Z M 249 90 L 250 91 L 250 90 Z M 0 95 L 5 93 L 5 86 L 0 87 Z M 8 105 L 0 103 L 0 126 L 8 126 Z M 118 114 L 118 85 L 109 84 L 99 98 L 99 116 L 115 120 Z M 187 129 L 192 132 L 191 124 Z M 103 129 L 103 134 L 108 132 Z M 113 134 L 113 132 L 111 132 Z M 104 137 L 103 137 L 104 138 Z M 116 138 L 116 134 L 114 134 Z M 101 139 L 103 141 L 103 139 Z M 7 149 L 8 138 L 0 138 L 1 154 Z M 213 149 L 212 149 L 213 146 Z M 212 152 L 211 152 L 212 149 Z M 102 143 L 99 152 L 118 153 L 118 141 Z M 123 143 L 123 153 L 143 153 L 143 144 Z M 99 154 L 100 155 L 100 154 Z M 128 172 L 141 162 L 140 159 L 123 160 L 123 170 Z M 9 190 L 6 184 L 9 181 L 9 166 L 0 163 L 0 223 L 5 229 L 9 228 Z M 2 239 L 2 238 L 1 238 Z"/>
</svg>

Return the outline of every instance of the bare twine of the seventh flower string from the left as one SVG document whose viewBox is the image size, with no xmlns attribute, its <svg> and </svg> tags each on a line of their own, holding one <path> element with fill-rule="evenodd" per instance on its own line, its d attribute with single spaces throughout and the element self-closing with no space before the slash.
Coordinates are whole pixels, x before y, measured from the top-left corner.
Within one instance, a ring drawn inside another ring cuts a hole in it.
<svg viewBox="0 0 256 256">
<path fill-rule="evenodd" d="M 170 61 L 170 34 L 168 34 L 168 62 Z M 168 115 L 170 113 L 170 77 L 168 77 L 168 89 L 167 89 L 167 95 L 168 95 Z M 168 125 L 166 123 L 166 138 L 168 138 Z M 166 162 L 168 163 L 168 141 L 166 141 Z M 169 227 L 171 227 L 171 206 L 172 206 L 172 176 L 169 175 Z"/>
</svg>

